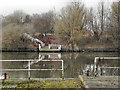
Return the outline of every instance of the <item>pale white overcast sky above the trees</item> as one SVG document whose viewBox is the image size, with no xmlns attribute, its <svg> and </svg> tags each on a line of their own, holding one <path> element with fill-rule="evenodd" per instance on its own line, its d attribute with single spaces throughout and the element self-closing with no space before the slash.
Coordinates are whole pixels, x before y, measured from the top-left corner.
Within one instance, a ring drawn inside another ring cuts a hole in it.
<svg viewBox="0 0 120 90">
<path fill-rule="evenodd" d="M 1 0 L 0 15 L 8 15 L 15 10 L 22 10 L 28 14 L 43 13 L 49 10 L 60 11 L 70 1 L 78 0 Z M 81 0 L 86 7 L 96 7 L 100 0 Z M 107 0 L 109 2 L 115 0 Z"/>
</svg>

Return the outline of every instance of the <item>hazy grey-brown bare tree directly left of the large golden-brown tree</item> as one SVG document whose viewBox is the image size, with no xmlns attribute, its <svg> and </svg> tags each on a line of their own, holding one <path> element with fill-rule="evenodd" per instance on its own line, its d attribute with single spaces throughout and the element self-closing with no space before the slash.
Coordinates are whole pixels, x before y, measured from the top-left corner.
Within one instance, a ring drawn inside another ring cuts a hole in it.
<svg viewBox="0 0 120 90">
<path fill-rule="evenodd" d="M 41 15 L 36 15 L 36 18 L 33 20 L 33 23 L 36 32 L 39 32 L 41 34 L 53 33 L 54 26 L 53 11 L 49 11 Z"/>
</svg>

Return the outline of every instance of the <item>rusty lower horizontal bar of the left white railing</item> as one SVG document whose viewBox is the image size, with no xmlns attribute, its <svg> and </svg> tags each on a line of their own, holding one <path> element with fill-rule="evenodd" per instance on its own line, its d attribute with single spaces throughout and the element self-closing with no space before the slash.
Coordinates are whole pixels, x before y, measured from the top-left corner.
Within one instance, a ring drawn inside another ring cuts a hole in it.
<svg viewBox="0 0 120 90">
<path fill-rule="evenodd" d="M 62 71 L 62 69 L 0 69 L 2 71 Z"/>
</svg>

